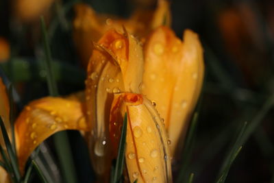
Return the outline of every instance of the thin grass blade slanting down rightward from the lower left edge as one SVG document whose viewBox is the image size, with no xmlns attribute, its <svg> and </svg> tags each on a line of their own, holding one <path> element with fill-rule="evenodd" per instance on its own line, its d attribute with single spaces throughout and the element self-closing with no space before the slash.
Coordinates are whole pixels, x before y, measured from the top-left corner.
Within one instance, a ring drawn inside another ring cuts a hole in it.
<svg viewBox="0 0 274 183">
<path fill-rule="evenodd" d="M 14 176 L 16 180 L 19 182 L 21 180 L 21 176 L 18 169 L 17 158 L 16 158 L 16 155 L 14 154 L 12 144 L 10 143 L 10 138 L 8 137 L 8 132 L 5 130 L 5 125 L 2 119 L 0 119 L 0 126 L 1 126 L 2 135 L 3 135 L 3 140 L 5 141 L 5 147 L 7 148 L 8 156 L 10 157 L 10 163 L 12 165 Z"/>
</svg>

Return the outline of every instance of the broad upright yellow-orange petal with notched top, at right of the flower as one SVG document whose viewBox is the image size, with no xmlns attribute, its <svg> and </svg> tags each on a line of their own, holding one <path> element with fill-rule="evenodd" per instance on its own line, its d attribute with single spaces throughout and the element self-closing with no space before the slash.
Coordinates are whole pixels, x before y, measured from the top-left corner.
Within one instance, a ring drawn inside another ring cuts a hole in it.
<svg viewBox="0 0 274 183">
<path fill-rule="evenodd" d="M 186 30 L 182 42 L 171 29 L 159 27 L 149 36 L 144 50 L 142 92 L 155 101 L 164 118 L 174 154 L 201 91 L 203 49 L 194 32 Z"/>
</svg>

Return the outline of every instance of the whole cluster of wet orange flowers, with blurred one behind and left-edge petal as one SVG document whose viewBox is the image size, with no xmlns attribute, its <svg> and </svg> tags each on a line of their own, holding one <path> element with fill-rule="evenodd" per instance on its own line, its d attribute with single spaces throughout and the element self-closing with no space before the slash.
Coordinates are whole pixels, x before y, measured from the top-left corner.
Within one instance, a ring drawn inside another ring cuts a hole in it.
<svg viewBox="0 0 274 183">
<path fill-rule="evenodd" d="M 86 91 L 25 106 L 15 123 L 21 170 L 47 137 L 81 130 L 96 173 L 108 178 L 127 113 L 129 181 L 172 182 L 171 159 L 182 149 L 203 82 L 197 34 L 186 30 L 184 42 L 177 38 L 163 0 L 155 11 L 136 12 L 127 20 L 98 15 L 84 4 L 75 10 L 73 38 L 87 68 Z M 0 84 L 1 117 L 10 130 L 8 98 Z"/>
</svg>

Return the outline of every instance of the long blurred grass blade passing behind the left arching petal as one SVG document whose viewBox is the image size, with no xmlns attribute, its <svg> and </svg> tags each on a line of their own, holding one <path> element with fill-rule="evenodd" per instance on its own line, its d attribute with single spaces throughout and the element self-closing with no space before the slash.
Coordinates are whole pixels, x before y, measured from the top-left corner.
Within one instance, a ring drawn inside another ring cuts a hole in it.
<svg viewBox="0 0 274 183">
<path fill-rule="evenodd" d="M 58 96 L 58 88 L 57 84 L 53 75 L 53 69 L 51 69 L 51 51 L 49 48 L 49 40 L 47 38 L 47 30 L 45 26 L 45 21 L 43 16 L 41 16 L 41 27 L 42 27 L 42 34 L 43 34 L 43 42 L 45 47 L 45 54 L 46 54 L 46 71 L 47 71 L 47 83 L 49 86 L 49 93 L 51 96 Z M 59 132 L 53 136 L 54 138 L 54 145 L 56 152 L 58 154 L 58 158 L 60 160 L 60 165 L 62 168 L 62 173 L 64 175 L 65 182 L 75 183 L 77 182 L 76 174 L 75 174 L 75 166 L 73 163 L 73 156 L 71 154 L 71 147 L 69 144 L 69 138 L 66 132 Z"/>
</svg>

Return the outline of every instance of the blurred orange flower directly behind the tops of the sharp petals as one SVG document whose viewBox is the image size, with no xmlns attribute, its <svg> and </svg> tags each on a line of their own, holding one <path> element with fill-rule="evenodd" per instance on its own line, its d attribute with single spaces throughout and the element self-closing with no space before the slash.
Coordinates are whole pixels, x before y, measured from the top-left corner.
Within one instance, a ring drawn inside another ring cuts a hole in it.
<svg viewBox="0 0 274 183">
<path fill-rule="evenodd" d="M 169 3 L 164 0 L 158 1 L 154 11 L 136 10 L 129 19 L 97 14 L 89 5 L 79 3 L 75 5 L 73 38 L 82 64 L 86 66 L 92 50 L 92 41 L 97 42 L 108 29 L 115 28 L 121 33 L 125 26 L 130 34 L 145 38 L 152 29 L 163 24 L 171 25 Z"/>
</svg>

